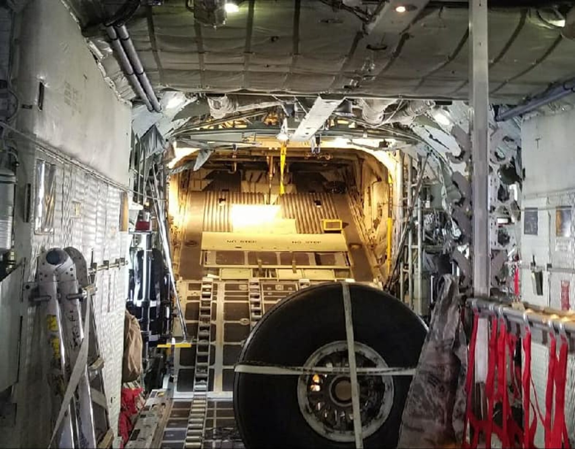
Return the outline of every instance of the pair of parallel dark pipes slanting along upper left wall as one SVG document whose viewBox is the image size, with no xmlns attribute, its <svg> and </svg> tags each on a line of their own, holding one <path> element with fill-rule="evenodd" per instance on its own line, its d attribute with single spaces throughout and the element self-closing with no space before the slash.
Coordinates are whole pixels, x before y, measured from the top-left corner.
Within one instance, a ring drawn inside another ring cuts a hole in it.
<svg viewBox="0 0 575 449">
<path fill-rule="evenodd" d="M 154 93 L 154 88 L 144 71 L 144 67 L 137 55 L 132 39 L 128 34 L 125 25 L 106 26 L 106 32 L 112 42 L 112 48 L 116 52 L 124 73 L 132 83 L 136 94 L 142 99 L 148 111 L 162 111 L 162 106 L 158 97 Z"/>
</svg>

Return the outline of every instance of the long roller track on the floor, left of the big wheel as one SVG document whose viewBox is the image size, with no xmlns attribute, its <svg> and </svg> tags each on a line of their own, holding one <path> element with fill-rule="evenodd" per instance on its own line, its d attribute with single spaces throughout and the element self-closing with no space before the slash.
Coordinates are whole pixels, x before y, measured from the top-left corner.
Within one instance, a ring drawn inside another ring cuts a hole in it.
<svg viewBox="0 0 575 449">
<path fill-rule="evenodd" d="M 202 278 L 198 338 L 194 372 L 194 396 L 187 421 L 186 449 L 200 449 L 204 440 L 206 411 L 208 409 L 208 378 L 210 362 L 210 328 L 212 325 L 213 280 Z"/>
</svg>

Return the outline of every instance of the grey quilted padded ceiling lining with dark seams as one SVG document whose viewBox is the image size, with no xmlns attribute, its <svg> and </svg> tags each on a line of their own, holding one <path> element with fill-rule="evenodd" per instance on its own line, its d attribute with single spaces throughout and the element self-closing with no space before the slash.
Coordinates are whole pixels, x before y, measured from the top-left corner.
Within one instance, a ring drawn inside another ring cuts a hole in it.
<svg viewBox="0 0 575 449">
<path fill-rule="evenodd" d="M 127 26 L 158 90 L 467 98 L 465 7 L 428 5 L 404 32 L 380 30 L 367 45 L 361 18 L 327 3 L 246 0 L 213 28 L 170 1 L 140 8 Z M 493 102 L 575 75 L 575 42 L 535 9 L 490 9 L 489 53 Z"/>
</svg>

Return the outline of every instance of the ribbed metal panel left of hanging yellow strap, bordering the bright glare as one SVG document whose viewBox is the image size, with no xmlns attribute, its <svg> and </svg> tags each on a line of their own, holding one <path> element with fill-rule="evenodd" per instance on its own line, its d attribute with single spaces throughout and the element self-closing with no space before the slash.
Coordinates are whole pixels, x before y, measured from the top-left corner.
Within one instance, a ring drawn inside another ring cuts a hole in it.
<svg viewBox="0 0 575 449">
<path fill-rule="evenodd" d="M 220 199 L 225 199 L 222 206 L 220 206 Z M 265 196 L 263 193 L 252 192 L 206 192 L 204 231 L 232 232 L 230 217 L 232 204 L 265 204 Z"/>
</svg>

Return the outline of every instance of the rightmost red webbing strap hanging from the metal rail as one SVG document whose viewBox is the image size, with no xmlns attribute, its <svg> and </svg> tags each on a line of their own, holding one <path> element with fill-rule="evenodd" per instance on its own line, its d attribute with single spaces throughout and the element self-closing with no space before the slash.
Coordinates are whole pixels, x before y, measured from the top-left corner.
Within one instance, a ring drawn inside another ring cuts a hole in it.
<svg viewBox="0 0 575 449">
<path fill-rule="evenodd" d="M 561 337 L 559 358 L 555 359 L 554 384 L 555 384 L 555 413 L 553 426 L 550 431 L 549 447 L 569 447 L 569 436 L 565 424 L 565 385 L 567 382 L 567 339 Z M 553 358 L 555 353 L 553 352 Z"/>
</svg>

